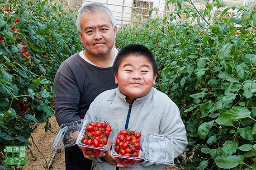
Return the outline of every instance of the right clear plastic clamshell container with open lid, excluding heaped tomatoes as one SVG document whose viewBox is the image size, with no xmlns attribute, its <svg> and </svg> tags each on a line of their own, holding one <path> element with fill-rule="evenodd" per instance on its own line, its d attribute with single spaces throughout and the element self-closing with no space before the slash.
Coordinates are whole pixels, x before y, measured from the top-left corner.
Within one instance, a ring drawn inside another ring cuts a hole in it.
<svg viewBox="0 0 256 170">
<path fill-rule="evenodd" d="M 133 166 L 138 160 L 151 161 L 161 164 L 174 164 L 173 138 L 171 135 L 147 133 L 141 137 L 141 148 L 137 157 L 122 156 L 115 152 L 112 146 L 111 155 L 116 157 L 119 165 Z"/>
</svg>

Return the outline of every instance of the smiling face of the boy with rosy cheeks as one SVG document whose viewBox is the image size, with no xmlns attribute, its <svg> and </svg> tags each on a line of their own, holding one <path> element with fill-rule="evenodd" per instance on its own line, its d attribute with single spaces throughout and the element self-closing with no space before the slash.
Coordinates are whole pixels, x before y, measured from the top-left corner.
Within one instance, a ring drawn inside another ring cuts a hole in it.
<svg viewBox="0 0 256 170">
<path fill-rule="evenodd" d="M 120 91 L 126 96 L 128 102 L 146 96 L 152 85 L 156 84 L 156 75 L 153 72 L 152 63 L 142 55 L 128 55 L 114 74 L 115 83 L 119 85 Z"/>
</svg>

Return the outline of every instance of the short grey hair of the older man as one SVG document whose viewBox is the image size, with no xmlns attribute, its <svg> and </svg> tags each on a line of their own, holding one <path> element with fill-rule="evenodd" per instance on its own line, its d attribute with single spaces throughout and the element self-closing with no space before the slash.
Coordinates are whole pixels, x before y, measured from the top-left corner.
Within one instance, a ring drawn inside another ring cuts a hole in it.
<svg viewBox="0 0 256 170">
<path fill-rule="evenodd" d="M 81 17 L 84 17 L 86 12 L 91 12 L 91 13 L 105 12 L 109 15 L 113 28 L 116 26 L 116 20 L 115 20 L 114 14 L 108 7 L 100 3 L 90 3 L 90 4 L 84 5 L 78 11 L 77 18 L 76 18 L 76 28 L 77 28 L 77 31 L 79 32 L 82 31 Z"/>
</svg>

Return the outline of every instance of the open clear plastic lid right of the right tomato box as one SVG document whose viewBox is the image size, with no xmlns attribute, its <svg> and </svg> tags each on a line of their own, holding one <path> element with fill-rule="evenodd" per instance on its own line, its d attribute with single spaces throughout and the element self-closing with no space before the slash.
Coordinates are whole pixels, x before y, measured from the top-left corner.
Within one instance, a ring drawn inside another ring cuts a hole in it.
<svg viewBox="0 0 256 170">
<path fill-rule="evenodd" d="M 144 160 L 161 164 L 174 164 L 171 135 L 147 133 L 142 146 Z"/>
</svg>

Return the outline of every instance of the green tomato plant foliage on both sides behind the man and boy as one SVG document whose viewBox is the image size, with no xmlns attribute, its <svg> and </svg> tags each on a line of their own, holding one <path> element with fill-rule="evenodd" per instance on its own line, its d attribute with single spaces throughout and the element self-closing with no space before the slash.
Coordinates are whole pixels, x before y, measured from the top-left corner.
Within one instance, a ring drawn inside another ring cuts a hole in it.
<svg viewBox="0 0 256 170">
<path fill-rule="evenodd" d="M 116 46 L 139 43 L 155 54 L 156 87 L 180 107 L 187 130 L 185 160 L 179 158 L 184 168 L 256 169 L 255 7 L 214 0 L 195 9 L 190 0 L 170 2 L 176 9 L 167 18 L 119 28 Z M 41 121 L 50 128 L 54 75 L 82 49 L 74 11 L 51 3 L 0 0 L 1 153 L 5 145 L 28 146 Z M 186 21 L 174 23 L 181 14 Z M 1 169 L 11 169 L 3 160 L 0 154 Z"/>
</svg>

